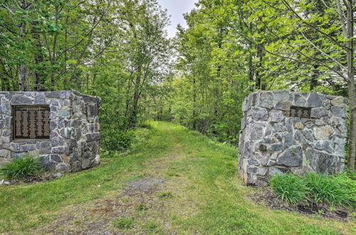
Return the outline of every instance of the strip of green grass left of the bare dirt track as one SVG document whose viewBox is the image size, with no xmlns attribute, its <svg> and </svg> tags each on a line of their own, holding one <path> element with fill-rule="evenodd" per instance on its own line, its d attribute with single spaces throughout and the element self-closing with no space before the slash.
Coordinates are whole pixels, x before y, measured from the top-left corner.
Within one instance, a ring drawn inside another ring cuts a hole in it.
<svg viewBox="0 0 356 235">
<path fill-rule="evenodd" d="M 1 187 L 0 233 L 38 226 L 42 221 L 38 218 L 41 214 L 104 197 L 121 189 L 126 182 L 137 179 L 137 172 L 145 169 L 145 162 L 166 154 L 172 145 L 166 130 L 156 128 L 151 135 L 142 149 L 137 149 L 130 157 L 103 160 L 95 169 L 69 174 L 53 182 Z"/>
</svg>

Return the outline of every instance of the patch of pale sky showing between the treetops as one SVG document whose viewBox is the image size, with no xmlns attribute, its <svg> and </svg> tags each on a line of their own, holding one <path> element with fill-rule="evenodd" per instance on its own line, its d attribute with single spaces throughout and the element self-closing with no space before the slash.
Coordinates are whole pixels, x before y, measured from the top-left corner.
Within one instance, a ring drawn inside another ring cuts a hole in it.
<svg viewBox="0 0 356 235">
<path fill-rule="evenodd" d="M 167 9 L 168 15 L 171 16 L 171 25 L 167 28 L 170 38 L 175 36 L 178 23 L 184 28 L 187 26 L 183 14 L 191 11 L 194 8 L 194 3 L 197 1 L 198 0 L 158 0 L 159 5 L 161 5 L 163 9 Z"/>
</svg>

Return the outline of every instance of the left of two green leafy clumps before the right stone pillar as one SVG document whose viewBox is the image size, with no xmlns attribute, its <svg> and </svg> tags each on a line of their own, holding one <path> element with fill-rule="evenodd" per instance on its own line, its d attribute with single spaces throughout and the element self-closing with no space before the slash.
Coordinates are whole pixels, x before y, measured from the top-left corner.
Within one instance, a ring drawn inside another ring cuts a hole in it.
<svg viewBox="0 0 356 235">
<path fill-rule="evenodd" d="M 276 174 L 270 181 L 273 192 L 278 199 L 282 199 L 289 204 L 303 204 L 308 194 L 308 187 L 302 178 L 295 174 Z"/>
</svg>

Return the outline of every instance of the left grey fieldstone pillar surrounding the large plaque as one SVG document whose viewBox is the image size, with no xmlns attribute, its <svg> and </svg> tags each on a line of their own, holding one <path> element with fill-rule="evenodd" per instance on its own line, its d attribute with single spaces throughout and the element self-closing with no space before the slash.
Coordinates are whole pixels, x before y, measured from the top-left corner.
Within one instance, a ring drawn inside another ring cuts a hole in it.
<svg viewBox="0 0 356 235">
<path fill-rule="evenodd" d="M 13 140 L 13 105 L 49 105 L 50 139 Z M 100 98 L 75 90 L 0 92 L 0 160 L 30 154 L 47 170 L 78 172 L 99 164 Z"/>
</svg>

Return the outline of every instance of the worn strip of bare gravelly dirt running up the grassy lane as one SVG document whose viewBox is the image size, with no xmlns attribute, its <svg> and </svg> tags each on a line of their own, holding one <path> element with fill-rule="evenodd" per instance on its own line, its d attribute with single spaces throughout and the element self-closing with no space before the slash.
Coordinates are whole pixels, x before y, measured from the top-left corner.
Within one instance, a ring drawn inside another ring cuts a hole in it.
<svg viewBox="0 0 356 235">
<path fill-rule="evenodd" d="M 178 146 L 174 148 L 178 149 Z M 159 199 L 157 193 L 167 189 L 167 182 L 174 180 L 165 179 L 161 175 L 169 162 L 179 157 L 182 155 L 172 151 L 169 155 L 150 161 L 147 170 L 142 172 L 147 177 L 128 182 L 111 196 L 64 207 L 46 227 L 33 229 L 31 234 L 144 234 L 140 226 L 152 217 L 162 219 L 164 229 L 169 230 L 169 224 L 165 221 L 167 218 L 162 216 L 167 210 L 167 202 Z M 145 214 L 150 218 L 137 215 L 139 205 L 145 205 Z M 137 223 L 132 230 L 135 232 L 122 233 L 111 225 L 112 221 L 120 217 L 135 217 Z M 169 231 L 169 234 L 174 234 L 174 231 Z"/>
</svg>

